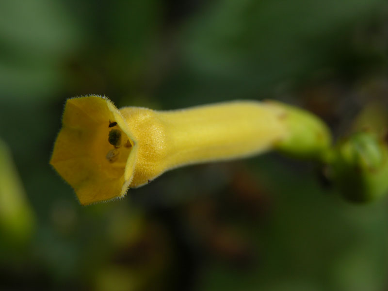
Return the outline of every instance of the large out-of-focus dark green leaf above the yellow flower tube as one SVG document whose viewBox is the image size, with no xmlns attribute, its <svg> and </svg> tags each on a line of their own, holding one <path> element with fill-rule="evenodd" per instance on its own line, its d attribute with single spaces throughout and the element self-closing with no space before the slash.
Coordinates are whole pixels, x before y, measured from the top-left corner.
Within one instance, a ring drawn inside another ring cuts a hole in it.
<svg viewBox="0 0 388 291">
<path fill-rule="evenodd" d="M 335 72 L 356 54 L 356 27 L 385 1 L 221 0 L 206 8 L 179 30 L 182 65 L 170 85 L 178 100 L 262 98 L 279 83 Z"/>
</svg>

